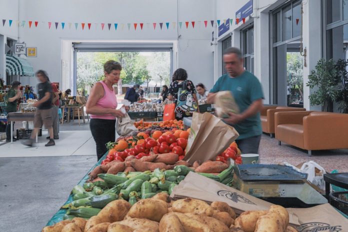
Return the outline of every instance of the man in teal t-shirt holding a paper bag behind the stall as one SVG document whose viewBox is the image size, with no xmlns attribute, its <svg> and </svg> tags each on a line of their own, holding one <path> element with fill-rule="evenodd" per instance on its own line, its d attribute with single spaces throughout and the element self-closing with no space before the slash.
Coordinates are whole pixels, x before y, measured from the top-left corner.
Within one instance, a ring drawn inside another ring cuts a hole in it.
<svg viewBox="0 0 348 232">
<path fill-rule="evenodd" d="M 262 133 L 259 112 L 263 99 L 261 84 L 256 76 L 244 70 L 238 48 L 227 48 L 223 54 L 223 62 L 228 74 L 220 76 L 210 89 L 208 102 L 214 102 L 218 91 L 232 92 L 240 113 L 230 113 L 223 121 L 238 131 L 236 142 L 242 153 L 257 153 Z"/>
</svg>

